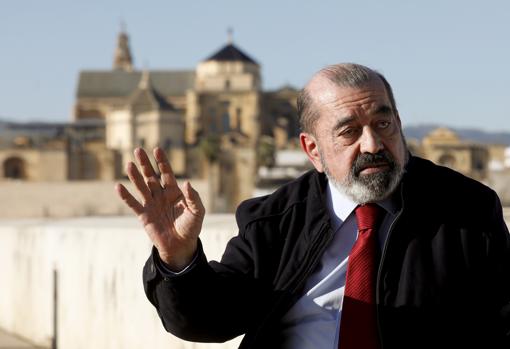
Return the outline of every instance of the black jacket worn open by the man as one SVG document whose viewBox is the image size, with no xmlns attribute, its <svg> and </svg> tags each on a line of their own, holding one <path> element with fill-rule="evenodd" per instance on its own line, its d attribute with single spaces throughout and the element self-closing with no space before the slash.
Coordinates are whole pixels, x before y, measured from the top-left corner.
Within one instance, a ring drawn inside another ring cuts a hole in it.
<svg viewBox="0 0 510 349">
<path fill-rule="evenodd" d="M 191 268 L 169 277 L 153 251 L 144 287 L 166 330 L 201 342 L 245 334 L 241 348 L 274 348 L 333 236 L 326 185 L 310 171 L 242 203 L 219 263 L 200 247 Z M 416 157 L 399 191 L 377 279 L 383 348 L 510 348 L 510 236 L 497 195 Z"/>
</svg>

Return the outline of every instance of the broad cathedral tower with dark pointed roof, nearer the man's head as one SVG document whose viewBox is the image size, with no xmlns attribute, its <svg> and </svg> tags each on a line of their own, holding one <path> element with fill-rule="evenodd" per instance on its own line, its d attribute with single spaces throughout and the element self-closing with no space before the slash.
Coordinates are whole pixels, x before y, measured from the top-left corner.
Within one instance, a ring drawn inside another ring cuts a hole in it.
<svg viewBox="0 0 510 349">
<path fill-rule="evenodd" d="M 255 144 L 260 129 L 261 78 L 259 64 L 232 43 L 200 62 L 195 88 L 187 93 L 186 141 L 236 133 Z"/>
</svg>

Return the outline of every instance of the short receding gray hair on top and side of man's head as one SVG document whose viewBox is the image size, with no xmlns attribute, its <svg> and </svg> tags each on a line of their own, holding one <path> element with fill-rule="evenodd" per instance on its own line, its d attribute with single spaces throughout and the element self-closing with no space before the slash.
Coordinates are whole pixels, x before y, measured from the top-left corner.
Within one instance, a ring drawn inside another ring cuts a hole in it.
<svg viewBox="0 0 510 349">
<path fill-rule="evenodd" d="M 374 80 L 381 80 L 388 94 L 391 107 L 397 113 L 393 91 L 386 78 L 379 72 L 360 64 L 341 63 L 321 69 L 315 76 L 323 76 L 340 87 L 361 88 Z M 313 106 L 313 96 L 305 86 L 297 97 L 299 125 L 303 132 L 313 133 L 319 112 Z"/>
</svg>

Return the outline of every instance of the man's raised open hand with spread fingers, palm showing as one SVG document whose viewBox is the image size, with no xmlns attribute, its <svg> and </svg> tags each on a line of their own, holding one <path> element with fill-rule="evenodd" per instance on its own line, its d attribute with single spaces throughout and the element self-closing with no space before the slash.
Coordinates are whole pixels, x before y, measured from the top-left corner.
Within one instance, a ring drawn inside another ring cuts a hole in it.
<svg viewBox="0 0 510 349">
<path fill-rule="evenodd" d="M 117 184 L 115 189 L 142 222 L 160 258 L 173 270 L 179 271 L 191 262 L 197 249 L 205 215 L 204 205 L 189 182 L 179 188 L 161 148 L 155 148 L 153 152 L 161 180 L 147 153 L 141 148 L 135 149 L 134 153 L 142 173 L 133 162 L 129 162 L 127 174 L 141 200 L 138 201 L 122 184 Z"/>
</svg>

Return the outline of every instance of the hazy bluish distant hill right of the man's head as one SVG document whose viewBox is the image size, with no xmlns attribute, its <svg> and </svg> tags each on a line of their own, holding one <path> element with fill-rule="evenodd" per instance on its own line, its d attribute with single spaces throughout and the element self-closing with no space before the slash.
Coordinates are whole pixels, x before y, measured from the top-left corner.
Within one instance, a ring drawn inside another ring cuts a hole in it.
<svg viewBox="0 0 510 349">
<path fill-rule="evenodd" d="M 424 136 L 438 127 L 448 127 L 456 132 L 463 140 L 474 141 L 483 144 L 506 144 L 510 146 L 510 132 L 488 132 L 471 128 L 455 128 L 446 125 L 423 124 L 404 127 L 406 138 L 421 140 Z"/>
</svg>

